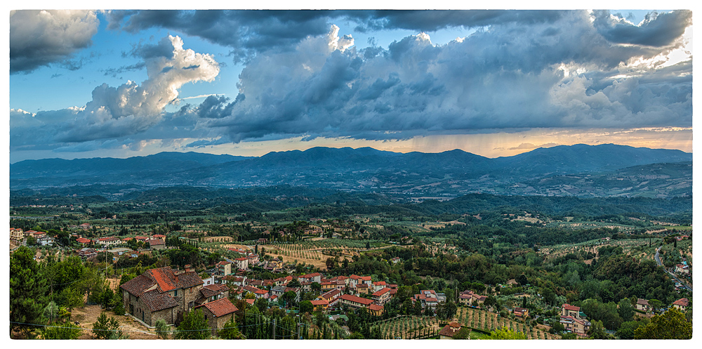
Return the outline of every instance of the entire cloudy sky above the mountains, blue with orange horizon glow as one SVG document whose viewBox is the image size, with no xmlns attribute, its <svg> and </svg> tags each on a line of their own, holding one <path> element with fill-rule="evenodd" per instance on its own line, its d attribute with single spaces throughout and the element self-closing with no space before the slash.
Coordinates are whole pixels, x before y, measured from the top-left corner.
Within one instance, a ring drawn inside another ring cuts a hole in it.
<svg viewBox="0 0 702 349">
<path fill-rule="evenodd" d="M 11 163 L 692 151 L 689 10 L 20 10 L 9 34 Z"/>
</svg>

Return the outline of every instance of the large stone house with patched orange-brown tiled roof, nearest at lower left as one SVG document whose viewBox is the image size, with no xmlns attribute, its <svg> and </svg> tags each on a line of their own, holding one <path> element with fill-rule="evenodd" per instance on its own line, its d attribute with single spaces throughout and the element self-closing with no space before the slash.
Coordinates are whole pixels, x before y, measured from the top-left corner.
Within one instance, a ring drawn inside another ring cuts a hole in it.
<svg viewBox="0 0 702 349">
<path fill-rule="evenodd" d="M 202 284 L 197 272 L 186 265 L 185 271 L 171 267 L 147 270 L 119 288 L 128 314 L 152 327 L 159 319 L 167 324 L 182 319 L 201 296 Z"/>
</svg>

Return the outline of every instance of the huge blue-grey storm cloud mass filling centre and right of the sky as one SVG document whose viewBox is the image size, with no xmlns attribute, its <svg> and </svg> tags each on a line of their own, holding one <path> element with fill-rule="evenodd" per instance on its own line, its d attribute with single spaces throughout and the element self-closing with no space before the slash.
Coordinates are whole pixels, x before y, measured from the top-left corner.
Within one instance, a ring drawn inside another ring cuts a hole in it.
<svg viewBox="0 0 702 349">
<path fill-rule="evenodd" d="M 199 127 L 237 142 L 283 134 L 406 139 L 479 129 L 691 124 L 685 74 L 691 65 L 642 67 L 650 72 L 617 78 L 630 59 L 665 51 L 612 44 L 585 11 L 555 22 L 494 25 L 442 46 L 418 34 L 370 48 L 371 55 L 330 51 L 340 39 L 332 28 L 294 50 L 261 53 L 240 75 L 246 100 L 207 101 L 202 109 L 215 117 L 201 117 Z M 567 75 L 563 65 L 585 72 Z M 232 110 L 223 117 L 225 107 Z"/>
</svg>

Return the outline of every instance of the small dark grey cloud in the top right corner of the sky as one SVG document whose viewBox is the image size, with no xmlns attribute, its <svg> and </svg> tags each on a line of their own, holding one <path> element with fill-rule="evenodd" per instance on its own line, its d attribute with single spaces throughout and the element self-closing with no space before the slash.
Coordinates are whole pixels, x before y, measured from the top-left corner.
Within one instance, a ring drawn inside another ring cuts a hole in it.
<svg viewBox="0 0 702 349">
<path fill-rule="evenodd" d="M 640 25 L 625 22 L 621 15 L 595 11 L 595 28 L 607 40 L 618 44 L 667 46 L 673 44 L 692 22 L 692 11 L 649 13 Z"/>
</svg>

